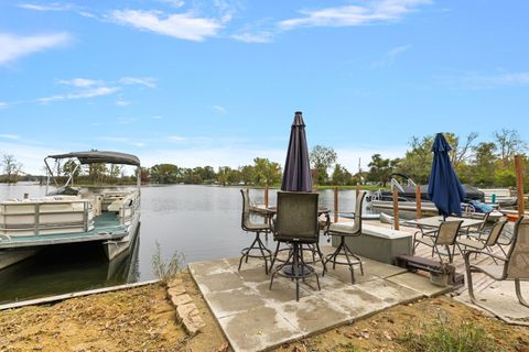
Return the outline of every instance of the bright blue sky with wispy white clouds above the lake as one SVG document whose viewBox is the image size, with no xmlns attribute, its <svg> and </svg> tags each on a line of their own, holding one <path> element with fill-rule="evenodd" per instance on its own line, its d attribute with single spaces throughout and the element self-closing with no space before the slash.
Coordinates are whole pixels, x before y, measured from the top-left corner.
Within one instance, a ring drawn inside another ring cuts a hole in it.
<svg viewBox="0 0 529 352">
<path fill-rule="evenodd" d="M 1 1 L 0 154 L 137 154 L 145 166 L 283 163 L 356 172 L 412 135 L 529 141 L 528 1 Z M 526 118 L 526 119 L 523 119 Z"/>
</svg>

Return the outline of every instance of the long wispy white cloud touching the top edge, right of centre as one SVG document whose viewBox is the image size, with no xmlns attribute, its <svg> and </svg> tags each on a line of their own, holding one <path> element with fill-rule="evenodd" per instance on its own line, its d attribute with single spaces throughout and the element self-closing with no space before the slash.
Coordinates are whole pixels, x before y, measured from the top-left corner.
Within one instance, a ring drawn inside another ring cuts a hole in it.
<svg viewBox="0 0 529 352">
<path fill-rule="evenodd" d="M 403 15 L 430 0 L 381 0 L 358 6 L 343 6 L 322 10 L 302 10 L 304 16 L 281 21 L 279 28 L 293 30 L 300 26 L 355 26 L 399 21 Z"/>
</svg>

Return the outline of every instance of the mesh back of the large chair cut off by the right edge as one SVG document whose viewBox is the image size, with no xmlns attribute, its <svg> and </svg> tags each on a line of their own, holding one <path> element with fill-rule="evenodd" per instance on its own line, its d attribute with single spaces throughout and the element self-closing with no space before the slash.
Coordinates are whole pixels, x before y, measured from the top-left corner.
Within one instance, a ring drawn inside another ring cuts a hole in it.
<svg viewBox="0 0 529 352">
<path fill-rule="evenodd" d="M 529 218 L 516 222 L 507 260 L 506 278 L 529 278 Z"/>
</svg>

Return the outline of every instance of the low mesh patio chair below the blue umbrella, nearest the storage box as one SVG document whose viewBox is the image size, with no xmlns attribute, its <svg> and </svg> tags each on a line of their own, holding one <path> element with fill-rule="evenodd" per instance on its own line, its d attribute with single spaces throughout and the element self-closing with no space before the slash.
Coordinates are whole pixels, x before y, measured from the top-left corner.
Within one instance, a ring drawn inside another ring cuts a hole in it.
<svg viewBox="0 0 529 352">
<path fill-rule="evenodd" d="M 442 255 L 449 256 L 449 263 L 454 261 L 454 249 L 450 250 L 450 246 L 455 246 L 455 240 L 460 232 L 461 224 L 463 220 L 456 221 L 443 221 L 439 226 L 438 230 L 430 231 L 429 235 L 421 235 L 418 237 L 419 232 L 415 232 L 413 235 L 413 252 L 415 251 L 419 244 L 424 244 L 432 248 L 432 255 L 433 253 L 438 253 L 439 258 L 443 262 Z M 444 246 L 446 252 L 441 252 L 439 250 L 440 246 Z"/>
</svg>

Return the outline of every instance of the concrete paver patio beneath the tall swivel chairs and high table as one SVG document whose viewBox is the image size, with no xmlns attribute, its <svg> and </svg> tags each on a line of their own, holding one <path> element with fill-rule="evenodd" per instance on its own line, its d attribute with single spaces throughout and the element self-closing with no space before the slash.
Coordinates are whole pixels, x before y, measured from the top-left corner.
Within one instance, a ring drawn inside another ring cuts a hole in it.
<svg viewBox="0 0 529 352">
<path fill-rule="evenodd" d="M 269 288 L 270 275 L 264 274 L 262 261 L 250 260 L 240 272 L 237 271 L 238 257 L 188 266 L 235 351 L 268 350 L 422 298 L 423 293 L 436 289 L 429 289 L 424 286 L 429 282 L 421 279 L 407 276 L 395 279 L 408 274 L 367 260 L 366 275 L 355 268 L 355 284 L 350 283 L 347 266 L 330 267 L 322 277 L 323 266 L 316 264 L 322 289 L 317 289 L 315 277 L 300 280 L 300 300 L 296 301 L 295 282 L 289 278 L 276 276 L 272 289 Z"/>
</svg>

